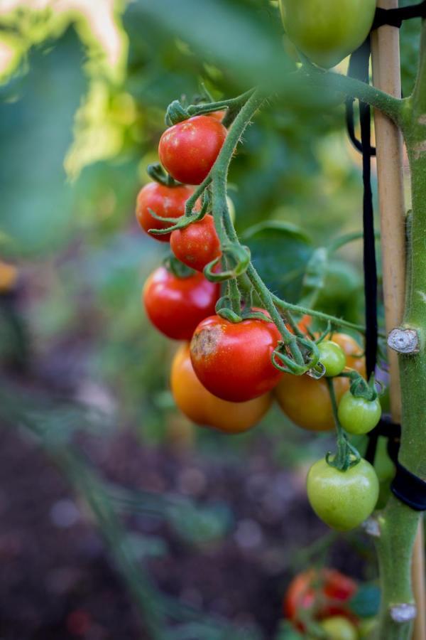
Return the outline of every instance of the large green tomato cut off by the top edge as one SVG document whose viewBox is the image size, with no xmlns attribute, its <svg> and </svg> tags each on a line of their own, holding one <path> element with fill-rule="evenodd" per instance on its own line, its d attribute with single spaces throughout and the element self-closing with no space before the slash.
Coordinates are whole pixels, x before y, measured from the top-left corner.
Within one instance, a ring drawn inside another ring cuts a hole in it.
<svg viewBox="0 0 426 640">
<path fill-rule="evenodd" d="M 364 42 L 376 0 L 280 0 L 285 31 L 321 67 L 333 67 Z"/>
</svg>

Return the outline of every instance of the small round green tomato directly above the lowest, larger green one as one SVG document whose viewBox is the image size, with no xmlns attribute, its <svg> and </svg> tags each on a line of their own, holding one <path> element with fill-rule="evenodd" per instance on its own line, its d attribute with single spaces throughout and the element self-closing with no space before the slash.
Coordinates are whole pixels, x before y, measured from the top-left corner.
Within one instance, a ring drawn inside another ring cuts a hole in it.
<svg viewBox="0 0 426 640">
<path fill-rule="evenodd" d="M 337 411 L 339 422 L 348 433 L 361 435 L 368 433 L 376 425 L 381 417 L 380 400 L 366 400 L 355 398 L 350 391 L 344 393 L 339 402 Z"/>
</svg>

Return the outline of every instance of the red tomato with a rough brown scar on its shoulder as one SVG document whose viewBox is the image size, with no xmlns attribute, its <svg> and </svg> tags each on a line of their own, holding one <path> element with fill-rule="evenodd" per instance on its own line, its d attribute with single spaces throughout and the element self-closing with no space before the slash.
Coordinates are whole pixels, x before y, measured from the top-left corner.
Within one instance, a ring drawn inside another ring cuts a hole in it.
<svg viewBox="0 0 426 640">
<path fill-rule="evenodd" d="M 234 323 L 211 316 L 192 336 L 192 366 L 204 387 L 218 398 L 251 400 L 280 380 L 282 373 L 271 362 L 280 338 L 273 322 L 247 319 Z"/>
</svg>

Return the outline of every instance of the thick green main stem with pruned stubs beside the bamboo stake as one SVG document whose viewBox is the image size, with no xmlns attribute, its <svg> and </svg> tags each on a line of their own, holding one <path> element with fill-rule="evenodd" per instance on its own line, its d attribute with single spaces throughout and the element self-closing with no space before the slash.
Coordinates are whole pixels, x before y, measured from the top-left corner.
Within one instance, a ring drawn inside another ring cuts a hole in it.
<svg viewBox="0 0 426 640">
<path fill-rule="evenodd" d="M 415 329 L 420 352 L 399 357 L 402 394 L 402 437 L 399 460 L 426 480 L 426 23 L 422 24 L 420 65 L 413 96 L 405 103 L 402 129 L 411 169 L 413 212 L 407 247 L 406 302 L 403 324 Z M 415 604 L 411 558 L 422 514 L 391 497 L 379 516 L 377 541 L 382 606 L 379 638 L 410 639 Z M 422 603 L 419 603 L 422 606 Z"/>
</svg>

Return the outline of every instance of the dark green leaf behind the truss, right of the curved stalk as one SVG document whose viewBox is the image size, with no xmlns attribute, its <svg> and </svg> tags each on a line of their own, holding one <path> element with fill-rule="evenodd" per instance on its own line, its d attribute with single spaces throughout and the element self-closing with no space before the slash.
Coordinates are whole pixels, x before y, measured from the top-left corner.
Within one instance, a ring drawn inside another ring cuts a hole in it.
<svg viewBox="0 0 426 640">
<path fill-rule="evenodd" d="M 251 259 L 269 289 L 288 302 L 297 302 L 312 252 L 312 241 L 299 227 L 278 221 L 261 223 L 244 233 Z"/>
</svg>

